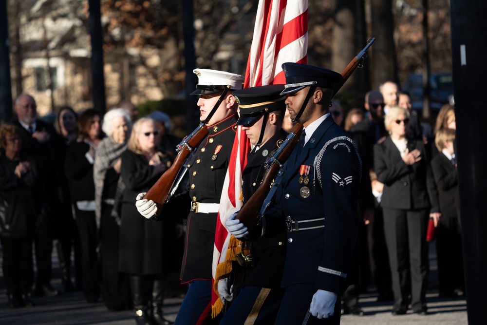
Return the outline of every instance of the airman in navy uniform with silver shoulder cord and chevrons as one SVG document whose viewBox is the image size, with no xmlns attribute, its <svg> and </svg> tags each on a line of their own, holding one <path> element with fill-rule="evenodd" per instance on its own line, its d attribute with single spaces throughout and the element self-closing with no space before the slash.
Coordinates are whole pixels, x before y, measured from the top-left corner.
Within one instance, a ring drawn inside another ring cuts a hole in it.
<svg viewBox="0 0 487 325">
<path fill-rule="evenodd" d="M 287 225 L 285 293 L 275 324 L 339 324 L 340 296 L 353 278 L 360 157 L 328 111 L 341 75 L 298 63 L 282 68 L 287 110 L 304 130 L 264 215 L 266 224 L 278 218 Z"/>
</svg>

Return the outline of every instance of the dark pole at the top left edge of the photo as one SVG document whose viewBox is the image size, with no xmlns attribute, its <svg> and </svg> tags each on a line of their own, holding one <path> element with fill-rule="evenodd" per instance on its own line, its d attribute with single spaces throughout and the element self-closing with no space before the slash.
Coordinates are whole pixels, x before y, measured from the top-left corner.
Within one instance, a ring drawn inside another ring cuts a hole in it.
<svg viewBox="0 0 487 325">
<path fill-rule="evenodd" d="M 12 119 L 12 84 L 10 81 L 7 1 L 0 0 L 0 120 Z"/>
</svg>

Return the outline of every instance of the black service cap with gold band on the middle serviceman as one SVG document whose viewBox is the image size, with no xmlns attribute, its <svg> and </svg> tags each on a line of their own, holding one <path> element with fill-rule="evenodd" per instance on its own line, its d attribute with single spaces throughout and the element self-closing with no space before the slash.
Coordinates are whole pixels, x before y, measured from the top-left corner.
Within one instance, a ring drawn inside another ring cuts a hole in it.
<svg viewBox="0 0 487 325">
<path fill-rule="evenodd" d="M 265 112 L 284 110 L 285 96 L 281 95 L 284 85 L 266 85 L 235 90 L 232 95 L 239 104 L 240 118 L 237 125 L 247 125 Z"/>
</svg>

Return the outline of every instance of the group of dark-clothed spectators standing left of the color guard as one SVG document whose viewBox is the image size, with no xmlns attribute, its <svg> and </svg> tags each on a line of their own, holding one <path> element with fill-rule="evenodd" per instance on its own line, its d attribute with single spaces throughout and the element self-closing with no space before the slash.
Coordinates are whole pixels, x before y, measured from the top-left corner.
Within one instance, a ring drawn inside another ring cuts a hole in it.
<svg viewBox="0 0 487 325">
<path fill-rule="evenodd" d="M 15 119 L 0 126 L 0 240 L 9 308 L 82 290 L 87 303 L 102 299 L 111 311 L 150 309 L 155 324 L 170 323 L 162 315 L 166 289 L 184 292 L 168 276 L 181 260 L 173 252 L 182 247 L 181 219 L 176 212 L 158 224 L 145 220 L 135 197 L 171 166 L 179 139 L 169 134 L 165 113 L 137 120 L 131 102 L 119 106 L 105 115 L 62 107 L 53 126 L 37 118 L 35 99 L 21 94 Z M 51 285 L 53 246 L 62 290 Z"/>
</svg>

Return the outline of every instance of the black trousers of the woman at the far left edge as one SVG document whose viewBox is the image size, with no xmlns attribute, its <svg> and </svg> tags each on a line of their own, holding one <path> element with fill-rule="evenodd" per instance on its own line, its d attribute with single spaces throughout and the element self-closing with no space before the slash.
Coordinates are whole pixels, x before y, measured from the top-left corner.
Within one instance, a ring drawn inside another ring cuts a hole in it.
<svg viewBox="0 0 487 325">
<path fill-rule="evenodd" d="M 32 237 L 7 238 L 0 236 L 3 250 L 3 279 L 7 294 L 17 298 L 27 294 L 34 282 Z"/>
</svg>

